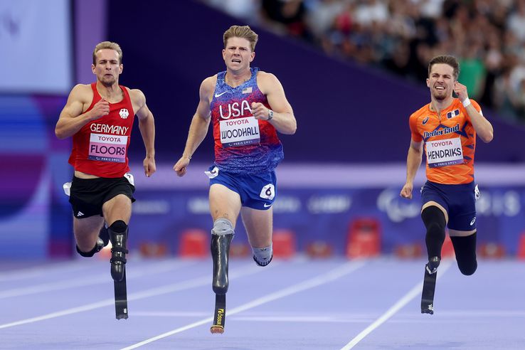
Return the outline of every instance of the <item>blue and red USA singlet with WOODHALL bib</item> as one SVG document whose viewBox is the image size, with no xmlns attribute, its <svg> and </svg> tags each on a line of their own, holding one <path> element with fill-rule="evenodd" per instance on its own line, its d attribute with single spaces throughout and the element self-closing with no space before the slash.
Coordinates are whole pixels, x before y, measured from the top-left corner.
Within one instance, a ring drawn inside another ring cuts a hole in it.
<svg viewBox="0 0 525 350">
<path fill-rule="evenodd" d="M 211 120 L 215 140 L 215 164 L 238 174 L 273 171 L 284 157 L 277 130 L 252 115 L 252 102 L 270 108 L 257 85 L 259 68 L 250 68 L 250 80 L 232 88 L 226 84 L 226 71 L 217 74 L 211 100 Z"/>
</svg>

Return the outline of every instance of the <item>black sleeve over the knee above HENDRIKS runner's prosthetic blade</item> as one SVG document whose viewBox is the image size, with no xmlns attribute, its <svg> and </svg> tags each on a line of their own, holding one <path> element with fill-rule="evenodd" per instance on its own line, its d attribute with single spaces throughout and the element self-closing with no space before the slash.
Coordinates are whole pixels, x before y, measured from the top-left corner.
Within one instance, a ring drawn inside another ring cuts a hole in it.
<svg viewBox="0 0 525 350">
<path fill-rule="evenodd" d="M 428 260 L 437 256 L 441 258 L 441 248 L 445 242 L 445 214 L 437 206 L 428 206 L 421 212 L 421 218 L 427 228 L 425 242 L 427 243 Z"/>
</svg>

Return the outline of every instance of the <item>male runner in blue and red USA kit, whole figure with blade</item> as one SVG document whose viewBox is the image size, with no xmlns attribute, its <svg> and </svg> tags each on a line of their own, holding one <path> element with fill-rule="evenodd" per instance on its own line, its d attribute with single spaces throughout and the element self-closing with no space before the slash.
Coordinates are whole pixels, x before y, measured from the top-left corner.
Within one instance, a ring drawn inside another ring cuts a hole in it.
<svg viewBox="0 0 525 350">
<path fill-rule="evenodd" d="M 213 125 L 215 164 L 210 178 L 210 211 L 213 218 L 211 254 L 216 316 L 212 333 L 223 333 L 228 290 L 228 251 L 239 213 L 242 216 L 253 260 L 270 263 L 272 203 L 276 196 L 275 167 L 283 158 L 277 132 L 294 134 L 297 122 L 280 81 L 271 73 L 250 68 L 258 35 L 249 26 L 231 26 L 223 35 L 226 71 L 206 78 L 191 120 L 183 155 L 174 166 L 186 174 L 191 156 Z"/>
</svg>

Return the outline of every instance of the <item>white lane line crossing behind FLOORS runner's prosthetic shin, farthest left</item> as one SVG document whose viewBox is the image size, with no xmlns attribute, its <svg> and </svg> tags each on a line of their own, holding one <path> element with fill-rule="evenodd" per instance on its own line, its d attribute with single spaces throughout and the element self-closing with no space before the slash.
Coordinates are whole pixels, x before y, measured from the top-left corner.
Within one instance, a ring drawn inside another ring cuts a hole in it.
<svg viewBox="0 0 525 350">
<path fill-rule="evenodd" d="M 131 273 L 129 273 L 128 276 L 129 279 L 132 280 L 145 275 L 157 275 L 159 273 L 169 272 L 171 270 L 179 270 L 181 267 L 186 267 L 187 265 L 190 265 L 190 263 L 187 261 L 163 262 L 143 267 L 140 270 L 132 269 Z M 110 267 L 110 265 L 108 264 L 107 267 Z M 102 283 L 107 283 L 108 281 L 109 277 L 107 275 L 102 276 L 99 274 L 96 277 L 83 276 L 73 278 L 67 281 L 55 281 L 41 283 L 40 285 L 13 288 L 11 290 L 3 290 L 0 292 L 0 299 L 5 299 L 9 297 L 21 297 L 23 295 L 32 295 L 43 292 L 51 292 L 53 290 L 66 290 L 70 288 L 84 287 L 87 285 L 100 285 Z"/>
</svg>

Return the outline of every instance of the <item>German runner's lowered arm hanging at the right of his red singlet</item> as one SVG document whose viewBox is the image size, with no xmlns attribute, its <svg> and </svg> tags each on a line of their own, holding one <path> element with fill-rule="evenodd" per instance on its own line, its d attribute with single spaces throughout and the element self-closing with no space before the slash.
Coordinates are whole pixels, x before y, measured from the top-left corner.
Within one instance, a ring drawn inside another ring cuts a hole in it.
<svg viewBox="0 0 525 350">
<path fill-rule="evenodd" d="M 146 96 L 141 90 L 131 90 L 130 95 L 138 107 L 136 115 L 139 118 L 140 134 L 146 148 L 146 157 L 142 161 L 142 165 L 144 166 L 144 174 L 149 177 L 157 170 L 155 164 L 155 119 L 152 111 L 146 105 Z"/>
</svg>

